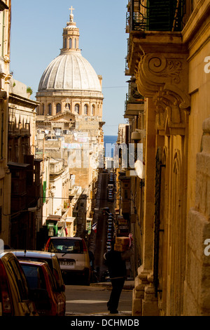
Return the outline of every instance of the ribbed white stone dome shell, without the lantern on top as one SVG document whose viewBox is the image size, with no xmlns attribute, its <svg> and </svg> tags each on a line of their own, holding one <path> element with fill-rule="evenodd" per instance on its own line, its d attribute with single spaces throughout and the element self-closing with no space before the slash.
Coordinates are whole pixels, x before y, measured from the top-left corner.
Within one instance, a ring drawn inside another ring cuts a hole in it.
<svg viewBox="0 0 210 330">
<path fill-rule="evenodd" d="M 99 78 L 79 51 L 62 52 L 41 77 L 38 91 L 83 90 L 102 92 Z"/>
</svg>

